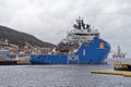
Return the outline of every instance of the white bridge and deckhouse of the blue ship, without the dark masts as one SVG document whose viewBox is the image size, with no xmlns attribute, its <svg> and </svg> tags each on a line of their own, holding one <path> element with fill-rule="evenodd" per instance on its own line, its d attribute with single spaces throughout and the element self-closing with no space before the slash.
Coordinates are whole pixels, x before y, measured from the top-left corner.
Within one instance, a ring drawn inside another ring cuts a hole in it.
<svg viewBox="0 0 131 87">
<path fill-rule="evenodd" d="M 74 42 L 75 41 L 79 44 L 79 46 L 83 42 L 83 41 L 91 41 L 94 39 L 94 37 L 98 37 L 99 38 L 99 33 L 97 29 L 92 29 L 92 28 L 73 28 L 71 32 L 69 32 L 68 36 L 62 40 L 62 41 L 68 41 L 69 42 Z"/>
</svg>

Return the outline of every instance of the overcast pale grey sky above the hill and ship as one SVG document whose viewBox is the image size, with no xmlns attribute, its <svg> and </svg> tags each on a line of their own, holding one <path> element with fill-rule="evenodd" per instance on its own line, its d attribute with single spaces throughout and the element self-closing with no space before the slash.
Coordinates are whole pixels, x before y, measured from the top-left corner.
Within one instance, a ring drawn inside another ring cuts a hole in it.
<svg viewBox="0 0 131 87">
<path fill-rule="evenodd" d="M 78 16 L 131 57 L 131 0 L 0 0 L 0 25 L 56 45 Z"/>
</svg>

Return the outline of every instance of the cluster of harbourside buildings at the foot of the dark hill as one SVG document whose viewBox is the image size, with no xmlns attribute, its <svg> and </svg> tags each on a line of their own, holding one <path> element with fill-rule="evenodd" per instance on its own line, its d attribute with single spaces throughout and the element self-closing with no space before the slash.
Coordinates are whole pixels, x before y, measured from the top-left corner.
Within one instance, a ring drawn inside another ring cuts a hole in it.
<svg viewBox="0 0 131 87">
<path fill-rule="evenodd" d="M 0 55 L 3 58 L 22 58 L 29 54 L 41 54 L 48 53 L 51 51 L 51 48 L 34 47 L 28 42 L 25 42 L 25 46 L 20 48 L 16 45 L 12 45 L 5 40 L 0 41 Z"/>
</svg>

